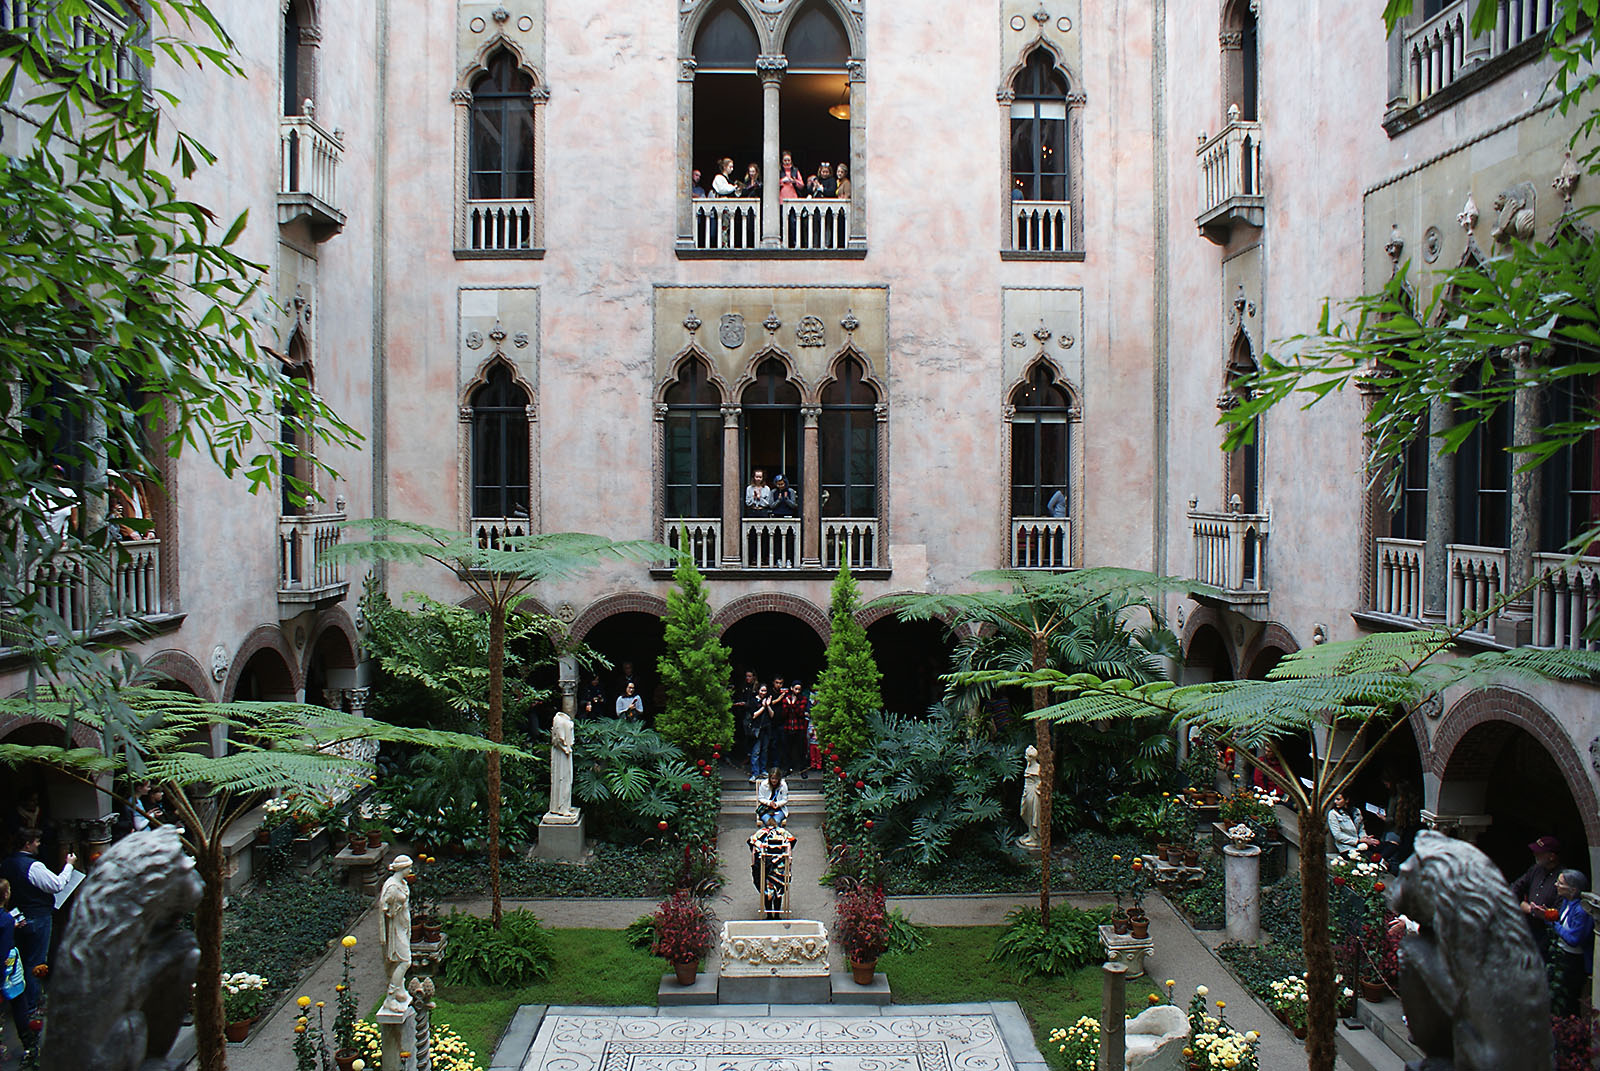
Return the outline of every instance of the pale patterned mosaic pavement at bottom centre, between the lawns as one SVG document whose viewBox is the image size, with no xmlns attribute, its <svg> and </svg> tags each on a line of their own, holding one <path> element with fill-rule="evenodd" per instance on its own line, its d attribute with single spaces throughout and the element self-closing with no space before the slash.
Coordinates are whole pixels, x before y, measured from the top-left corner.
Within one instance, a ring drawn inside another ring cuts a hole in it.
<svg viewBox="0 0 1600 1071">
<path fill-rule="evenodd" d="M 773 1009 L 763 1015 L 765 1005 L 746 1015 L 726 1012 L 717 1018 L 552 1013 L 522 1071 L 1019 1071 L 992 1013 L 806 1017 Z"/>
</svg>

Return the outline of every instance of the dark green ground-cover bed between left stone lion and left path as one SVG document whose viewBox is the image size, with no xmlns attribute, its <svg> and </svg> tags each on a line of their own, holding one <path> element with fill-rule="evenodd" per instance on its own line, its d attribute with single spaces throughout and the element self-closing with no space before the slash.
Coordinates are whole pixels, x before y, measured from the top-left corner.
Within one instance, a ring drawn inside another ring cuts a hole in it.
<svg viewBox="0 0 1600 1071">
<path fill-rule="evenodd" d="M 222 913 L 222 970 L 264 975 L 262 1007 L 274 1007 L 328 951 L 330 941 L 349 932 L 368 903 L 366 897 L 326 876 L 282 868 L 262 874 L 250 892 L 232 897 Z"/>
</svg>

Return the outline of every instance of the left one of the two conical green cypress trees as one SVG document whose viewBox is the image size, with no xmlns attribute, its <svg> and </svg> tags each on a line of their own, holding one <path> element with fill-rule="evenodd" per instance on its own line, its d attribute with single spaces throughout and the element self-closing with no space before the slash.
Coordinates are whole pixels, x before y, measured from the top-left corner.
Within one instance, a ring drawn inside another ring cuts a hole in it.
<svg viewBox="0 0 1600 1071">
<path fill-rule="evenodd" d="M 688 533 L 678 546 L 688 546 Z M 706 581 L 688 554 L 678 556 L 678 583 L 667 592 L 664 650 L 656 669 L 667 706 L 656 714 L 656 732 L 690 756 L 733 746 L 733 696 L 728 687 L 728 648 L 718 637 L 706 602 Z"/>
</svg>

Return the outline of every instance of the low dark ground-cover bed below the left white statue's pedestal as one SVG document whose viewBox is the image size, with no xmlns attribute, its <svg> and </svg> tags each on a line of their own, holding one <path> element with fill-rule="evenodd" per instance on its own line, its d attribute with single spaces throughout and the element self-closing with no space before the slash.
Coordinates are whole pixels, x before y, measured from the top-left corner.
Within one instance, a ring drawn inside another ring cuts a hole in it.
<svg viewBox="0 0 1600 1071">
<path fill-rule="evenodd" d="M 664 861 L 661 848 L 597 844 L 594 860 L 586 864 L 552 860 L 504 860 L 501 863 L 501 897 L 507 900 L 659 897 L 662 876 L 667 872 L 672 872 L 672 868 Z M 427 868 L 424 880 L 430 897 L 440 900 L 477 898 L 486 893 L 488 876 L 486 856 L 440 856 Z"/>
</svg>

